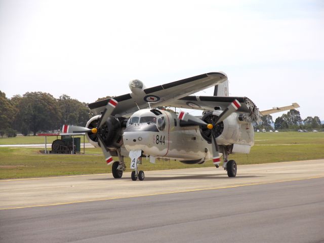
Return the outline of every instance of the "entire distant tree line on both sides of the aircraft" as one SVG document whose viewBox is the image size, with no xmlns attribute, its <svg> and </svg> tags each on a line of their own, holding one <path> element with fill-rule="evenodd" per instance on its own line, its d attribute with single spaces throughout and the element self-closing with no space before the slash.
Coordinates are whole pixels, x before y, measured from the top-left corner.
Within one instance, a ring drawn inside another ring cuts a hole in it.
<svg viewBox="0 0 324 243">
<path fill-rule="evenodd" d="M 97 101 L 108 99 L 110 96 L 98 98 Z M 57 130 L 63 124 L 86 126 L 93 116 L 88 104 L 72 99 L 68 95 L 61 95 L 58 99 L 49 93 L 27 92 L 24 95 L 15 95 L 11 99 L 0 91 L 0 135 L 15 137 L 18 133 L 23 135 L 38 132 Z M 319 129 L 318 116 L 300 117 L 298 110 L 292 109 L 287 114 L 276 118 L 274 123 L 271 115 L 261 117 L 262 124 L 254 124 L 255 129 L 277 130 Z"/>
</svg>

